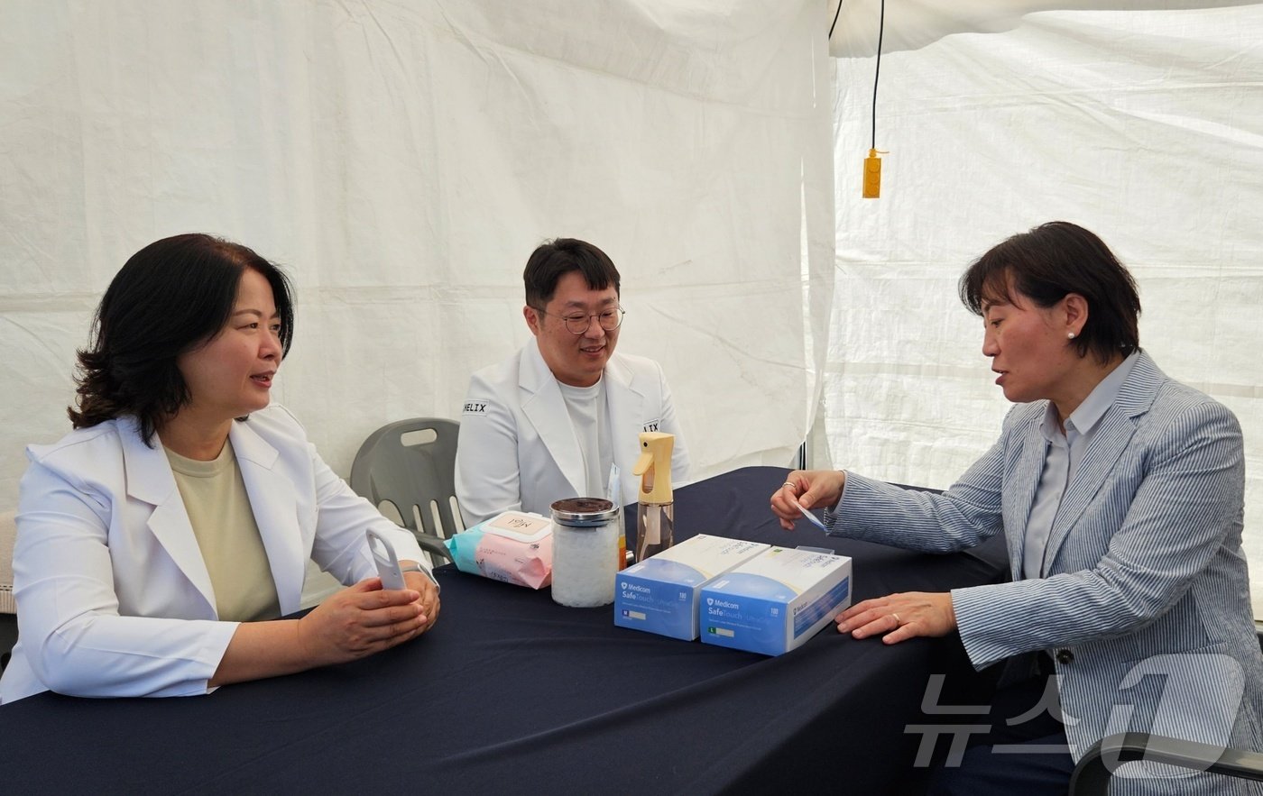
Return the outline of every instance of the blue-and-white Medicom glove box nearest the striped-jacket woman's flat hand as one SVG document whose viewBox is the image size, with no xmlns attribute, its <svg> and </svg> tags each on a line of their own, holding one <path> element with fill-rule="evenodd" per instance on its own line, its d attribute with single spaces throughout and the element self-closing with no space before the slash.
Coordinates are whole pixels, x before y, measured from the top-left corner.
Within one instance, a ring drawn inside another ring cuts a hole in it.
<svg viewBox="0 0 1263 796">
<path fill-rule="evenodd" d="M 702 588 L 705 643 L 763 655 L 788 652 L 851 604 L 851 560 L 772 547 Z"/>
</svg>

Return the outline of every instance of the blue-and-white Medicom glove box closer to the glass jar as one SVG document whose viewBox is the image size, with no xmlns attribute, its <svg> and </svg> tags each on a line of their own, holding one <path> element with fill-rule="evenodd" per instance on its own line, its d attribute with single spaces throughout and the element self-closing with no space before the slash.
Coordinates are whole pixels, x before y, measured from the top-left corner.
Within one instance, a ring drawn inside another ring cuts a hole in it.
<svg viewBox="0 0 1263 796">
<path fill-rule="evenodd" d="M 706 534 L 667 547 L 615 575 L 614 623 L 692 641 L 702 585 L 768 547 Z"/>
</svg>

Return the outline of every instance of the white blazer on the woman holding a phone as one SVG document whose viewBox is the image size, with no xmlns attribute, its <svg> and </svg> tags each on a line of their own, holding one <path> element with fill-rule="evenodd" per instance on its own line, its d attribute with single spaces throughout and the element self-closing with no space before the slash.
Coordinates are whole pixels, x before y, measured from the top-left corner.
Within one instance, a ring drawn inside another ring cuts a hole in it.
<svg viewBox="0 0 1263 796">
<path fill-rule="evenodd" d="M 424 563 L 412 534 L 351 492 L 284 407 L 234 421 L 229 439 L 282 613 L 299 608 L 308 558 L 345 584 L 375 574 L 369 526 L 400 559 Z M 45 690 L 207 693 L 237 623 L 217 618 L 171 464 L 154 445 L 123 418 L 28 448 L 14 547 L 19 635 L 0 703 Z"/>
</svg>

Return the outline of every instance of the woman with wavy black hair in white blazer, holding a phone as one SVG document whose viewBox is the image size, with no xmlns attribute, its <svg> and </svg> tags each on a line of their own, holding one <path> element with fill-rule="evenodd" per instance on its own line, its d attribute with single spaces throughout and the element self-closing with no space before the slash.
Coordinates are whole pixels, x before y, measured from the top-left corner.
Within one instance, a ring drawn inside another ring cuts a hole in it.
<svg viewBox="0 0 1263 796">
<path fill-rule="evenodd" d="M 269 406 L 292 336 L 285 276 L 245 246 L 182 235 L 119 271 L 80 352 L 76 430 L 28 450 L 19 637 L 0 701 L 206 694 L 371 655 L 433 624 L 437 587 L 416 539 Z M 374 577 L 369 527 L 410 570 L 405 589 Z M 354 585 L 280 619 L 299 607 L 308 559 Z"/>
</svg>

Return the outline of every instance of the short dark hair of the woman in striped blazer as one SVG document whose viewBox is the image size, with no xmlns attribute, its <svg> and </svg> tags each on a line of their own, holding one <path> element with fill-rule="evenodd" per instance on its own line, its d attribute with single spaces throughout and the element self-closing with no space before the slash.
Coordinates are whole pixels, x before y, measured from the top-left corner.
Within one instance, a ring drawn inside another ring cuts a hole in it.
<svg viewBox="0 0 1263 796">
<path fill-rule="evenodd" d="M 1075 337 L 1080 357 L 1110 362 L 1140 347 L 1135 280 L 1095 233 L 1050 221 L 993 246 L 960 278 L 960 300 L 976 315 L 988 303 L 1013 303 L 1013 291 L 1048 308 L 1077 293 L 1087 322 Z"/>
</svg>

